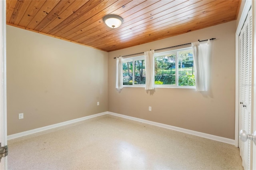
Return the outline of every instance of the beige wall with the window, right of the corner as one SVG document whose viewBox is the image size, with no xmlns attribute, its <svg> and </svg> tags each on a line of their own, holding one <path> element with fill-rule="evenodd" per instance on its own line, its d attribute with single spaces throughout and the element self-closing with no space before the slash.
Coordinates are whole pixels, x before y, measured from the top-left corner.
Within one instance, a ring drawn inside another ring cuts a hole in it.
<svg viewBox="0 0 256 170">
<path fill-rule="evenodd" d="M 236 21 L 183 35 L 129 47 L 108 54 L 108 111 L 234 139 L 235 125 L 235 32 Z M 211 59 L 211 89 L 144 88 L 115 89 L 116 60 L 113 57 L 160 49 L 198 39 L 216 38 Z M 148 111 L 148 106 L 152 111 Z"/>
</svg>

